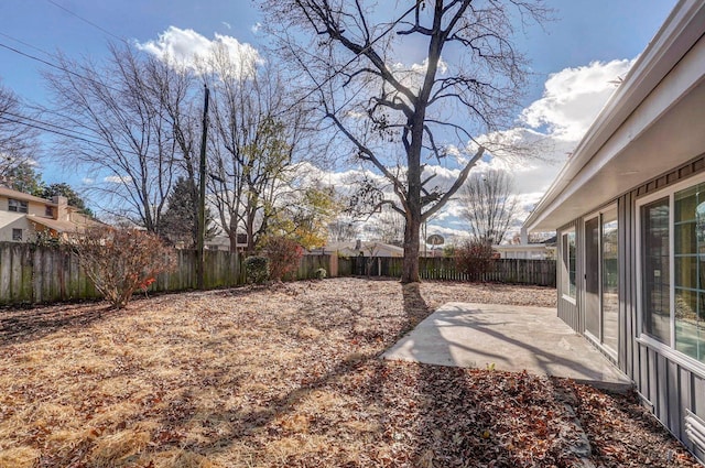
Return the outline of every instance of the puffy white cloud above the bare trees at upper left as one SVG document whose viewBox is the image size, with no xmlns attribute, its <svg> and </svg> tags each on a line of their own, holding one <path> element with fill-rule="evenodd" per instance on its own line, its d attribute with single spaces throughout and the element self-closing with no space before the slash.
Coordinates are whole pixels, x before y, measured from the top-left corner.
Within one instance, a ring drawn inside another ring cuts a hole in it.
<svg viewBox="0 0 705 468">
<path fill-rule="evenodd" d="M 227 73 L 236 77 L 249 73 L 262 62 L 257 48 L 232 36 L 215 33 L 214 39 L 209 40 L 194 30 L 176 26 L 169 26 L 156 40 L 138 42 L 135 45 L 175 67 L 196 73 L 218 72 L 224 75 L 223 68 L 215 69 L 213 66 L 212 58 L 216 55 L 227 59 Z"/>
</svg>

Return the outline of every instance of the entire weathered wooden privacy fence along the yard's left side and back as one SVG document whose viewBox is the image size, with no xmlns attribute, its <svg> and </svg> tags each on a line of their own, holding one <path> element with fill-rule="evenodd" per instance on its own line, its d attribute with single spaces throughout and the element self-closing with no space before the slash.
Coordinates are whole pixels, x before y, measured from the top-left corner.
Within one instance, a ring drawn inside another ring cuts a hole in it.
<svg viewBox="0 0 705 468">
<path fill-rule="evenodd" d="M 163 273 L 150 291 L 185 291 L 197 287 L 196 252 L 175 251 L 177 266 Z M 207 250 L 205 252 L 205 289 L 230 287 L 246 283 L 243 255 L 234 252 Z M 402 259 L 305 255 L 296 280 L 315 277 L 318 269 L 329 276 L 390 276 L 401 277 Z M 555 260 L 502 259 L 494 262 L 491 271 L 469 275 L 455 268 L 454 259 L 422 258 L 420 275 L 423 280 L 496 281 L 502 283 L 536 284 L 555 287 Z M 26 243 L 0 242 L 0 305 L 37 304 L 62 301 L 97 298 L 93 281 L 78 265 L 78 259 L 64 248 L 36 247 Z"/>
</svg>

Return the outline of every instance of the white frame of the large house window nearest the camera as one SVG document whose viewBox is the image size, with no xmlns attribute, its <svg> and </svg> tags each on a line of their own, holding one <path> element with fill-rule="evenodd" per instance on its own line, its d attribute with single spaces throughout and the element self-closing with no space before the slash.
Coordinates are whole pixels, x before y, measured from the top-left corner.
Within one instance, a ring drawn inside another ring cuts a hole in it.
<svg viewBox="0 0 705 468">
<path fill-rule="evenodd" d="M 705 363 L 699 360 L 687 356 L 681 351 L 679 351 L 675 346 L 675 230 L 674 230 L 674 213 L 675 213 L 675 193 L 684 191 L 690 187 L 697 186 L 698 184 L 705 183 L 705 174 L 698 174 L 694 177 L 688 177 L 686 179 L 680 181 L 675 184 L 669 185 L 668 187 L 658 189 L 653 193 L 647 194 L 634 202 L 634 222 L 636 222 L 636 263 L 637 263 L 637 342 L 640 342 L 657 352 L 661 353 L 664 357 L 668 357 L 672 361 L 676 362 L 680 366 L 688 369 L 693 373 L 697 374 L 701 378 L 705 379 Z M 644 333 L 643 330 L 643 275 L 641 272 L 644 268 L 644 260 L 642 258 L 642 235 L 643 235 L 643 219 L 641 216 L 641 207 L 648 205 L 652 202 L 657 202 L 660 198 L 669 198 L 669 262 L 670 262 L 670 271 L 669 271 L 669 323 L 670 323 L 670 344 L 664 344 L 652 337 L 651 335 Z"/>
</svg>

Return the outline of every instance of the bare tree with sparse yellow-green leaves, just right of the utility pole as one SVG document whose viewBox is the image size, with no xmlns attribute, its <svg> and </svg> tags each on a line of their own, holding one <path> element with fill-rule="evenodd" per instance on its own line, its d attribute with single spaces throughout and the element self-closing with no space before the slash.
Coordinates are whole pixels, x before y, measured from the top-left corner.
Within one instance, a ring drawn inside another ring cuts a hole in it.
<svg viewBox="0 0 705 468">
<path fill-rule="evenodd" d="M 296 189 L 308 116 L 288 101 L 282 77 L 271 67 L 240 64 L 246 72 L 234 75 L 229 56 L 216 54 L 213 68 L 218 79 L 213 83 L 212 192 L 230 247 L 240 230 L 253 252 L 285 207 L 282 198 Z"/>
</svg>

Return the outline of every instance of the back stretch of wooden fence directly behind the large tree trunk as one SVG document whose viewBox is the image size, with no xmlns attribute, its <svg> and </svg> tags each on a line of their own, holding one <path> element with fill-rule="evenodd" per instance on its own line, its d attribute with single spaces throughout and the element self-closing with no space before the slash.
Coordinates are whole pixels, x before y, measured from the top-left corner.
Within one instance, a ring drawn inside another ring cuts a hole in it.
<svg viewBox="0 0 705 468">
<path fill-rule="evenodd" d="M 346 272 L 352 275 L 401 277 L 403 259 L 398 258 L 351 258 Z M 340 263 L 343 275 L 343 262 Z M 455 259 L 421 258 L 419 275 L 422 280 L 485 281 L 517 284 L 535 284 L 555 287 L 555 260 L 498 259 L 492 261 L 490 270 L 480 274 L 459 271 Z"/>
</svg>

